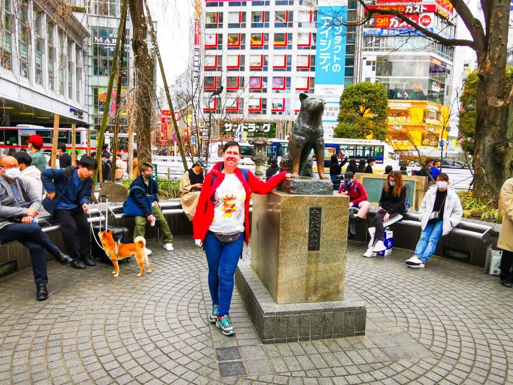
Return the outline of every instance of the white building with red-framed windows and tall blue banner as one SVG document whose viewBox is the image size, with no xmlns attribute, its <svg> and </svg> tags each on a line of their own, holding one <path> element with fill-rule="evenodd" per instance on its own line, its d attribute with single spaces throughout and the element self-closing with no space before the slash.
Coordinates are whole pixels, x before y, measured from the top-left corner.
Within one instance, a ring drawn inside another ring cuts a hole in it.
<svg viewBox="0 0 513 385">
<path fill-rule="evenodd" d="M 357 28 L 345 26 L 357 16 L 356 0 L 206 1 L 202 12 L 205 114 L 247 130 L 245 122 L 293 121 L 299 94 L 316 94 L 327 102 L 323 125 L 332 134 L 344 84 L 356 73 Z"/>
</svg>

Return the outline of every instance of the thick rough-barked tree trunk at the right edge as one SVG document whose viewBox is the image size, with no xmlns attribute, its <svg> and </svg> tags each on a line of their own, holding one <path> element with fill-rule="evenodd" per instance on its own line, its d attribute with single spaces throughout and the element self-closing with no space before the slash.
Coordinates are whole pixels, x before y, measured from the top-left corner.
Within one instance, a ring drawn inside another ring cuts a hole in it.
<svg viewBox="0 0 513 385">
<path fill-rule="evenodd" d="M 477 51 L 479 83 L 475 138 L 476 197 L 496 197 L 504 180 L 512 176 L 511 130 L 508 129 L 508 106 L 505 95 L 506 46 L 509 2 L 498 2 L 491 12 L 488 45 Z"/>
</svg>

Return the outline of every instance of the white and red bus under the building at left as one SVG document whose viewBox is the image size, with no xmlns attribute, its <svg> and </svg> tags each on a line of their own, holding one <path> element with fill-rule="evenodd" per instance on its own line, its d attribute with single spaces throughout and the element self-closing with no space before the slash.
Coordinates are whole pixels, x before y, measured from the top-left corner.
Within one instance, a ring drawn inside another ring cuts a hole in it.
<svg viewBox="0 0 513 385">
<path fill-rule="evenodd" d="M 6 154 L 11 147 L 14 147 L 16 151 L 19 151 L 21 148 L 27 148 L 27 140 L 34 134 L 43 138 L 41 150 L 43 152 L 51 152 L 53 128 L 29 124 L 18 124 L 15 127 L 0 127 L 0 149 Z M 91 129 L 91 150 L 96 149 L 96 134 L 96 130 Z M 68 150 L 71 150 L 71 138 L 71 128 L 59 128 L 58 141 L 65 143 Z M 75 140 L 75 149 L 78 150 L 78 153 L 85 153 L 87 151 L 87 128 L 77 127 Z"/>
</svg>

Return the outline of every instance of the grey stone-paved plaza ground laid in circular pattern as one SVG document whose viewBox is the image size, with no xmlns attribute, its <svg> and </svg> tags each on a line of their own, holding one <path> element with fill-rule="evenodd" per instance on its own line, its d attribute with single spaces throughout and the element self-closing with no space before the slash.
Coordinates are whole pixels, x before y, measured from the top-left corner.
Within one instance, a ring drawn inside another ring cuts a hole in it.
<svg viewBox="0 0 513 385">
<path fill-rule="evenodd" d="M 366 335 L 263 345 L 236 292 L 236 334 L 208 323 L 190 237 L 174 252 L 148 244 L 142 278 L 133 259 L 118 278 L 49 262 L 43 302 L 31 270 L 1 279 L 0 383 L 513 383 L 513 291 L 481 268 L 433 257 L 409 269 L 405 251 L 363 258 L 350 241 L 346 295 L 366 303 Z"/>
</svg>

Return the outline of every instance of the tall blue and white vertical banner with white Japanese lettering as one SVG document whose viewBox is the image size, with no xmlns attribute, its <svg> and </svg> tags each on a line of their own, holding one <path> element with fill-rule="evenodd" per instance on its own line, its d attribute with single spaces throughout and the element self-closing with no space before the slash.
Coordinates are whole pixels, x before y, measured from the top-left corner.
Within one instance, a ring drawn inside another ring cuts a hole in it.
<svg viewBox="0 0 513 385">
<path fill-rule="evenodd" d="M 347 0 L 319 0 L 317 50 L 315 52 L 315 95 L 326 101 L 323 114 L 325 136 L 337 125 L 339 100 L 344 91 L 346 63 Z"/>
</svg>

